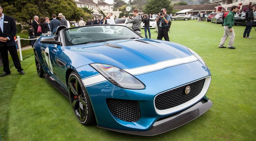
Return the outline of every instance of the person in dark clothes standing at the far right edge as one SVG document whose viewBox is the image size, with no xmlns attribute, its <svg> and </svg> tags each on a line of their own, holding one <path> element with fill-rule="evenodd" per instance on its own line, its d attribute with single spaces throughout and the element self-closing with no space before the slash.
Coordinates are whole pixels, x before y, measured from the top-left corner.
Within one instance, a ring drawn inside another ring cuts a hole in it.
<svg viewBox="0 0 256 141">
<path fill-rule="evenodd" d="M 249 8 L 245 14 L 245 19 L 247 20 L 246 20 L 245 31 L 243 32 L 243 38 L 252 38 L 250 37 L 250 30 L 252 29 L 252 24 L 254 19 L 253 10 L 255 10 L 255 5 L 252 5 L 252 8 Z"/>
</svg>

